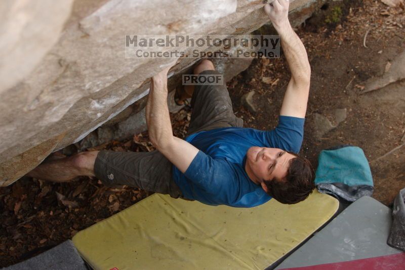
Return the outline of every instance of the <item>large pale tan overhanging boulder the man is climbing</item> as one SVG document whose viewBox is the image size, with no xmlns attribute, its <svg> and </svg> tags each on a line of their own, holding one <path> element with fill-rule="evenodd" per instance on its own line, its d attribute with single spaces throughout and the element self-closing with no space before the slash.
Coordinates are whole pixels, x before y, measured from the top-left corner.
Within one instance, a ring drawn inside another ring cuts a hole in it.
<svg viewBox="0 0 405 270">
<path fill-rule="evenodd" d="M 322 2 L 293 2 L 294 22 Z M 0 8 L 0 185 L 147 95 L 148 78 L 171 59 L 125 58 L 126 34 L 246 34 L 268 21 L 262 7 L 249 0 L 6 0 Z M 171 74 L 194 61 L 181 59 Z"/>
</svg>

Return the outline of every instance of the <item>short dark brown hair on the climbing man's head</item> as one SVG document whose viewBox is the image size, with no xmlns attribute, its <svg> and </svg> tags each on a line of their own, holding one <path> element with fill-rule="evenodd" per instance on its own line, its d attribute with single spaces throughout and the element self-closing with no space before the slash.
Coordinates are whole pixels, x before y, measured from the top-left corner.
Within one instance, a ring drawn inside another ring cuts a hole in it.
<svg viewBox="0 0 405 270">
<path fill-rule="evenodd" d="M 264 183 L 268 195 L 282 204 L 296 204 L 304 201 L 315 188 L 315 172 L 309 160 L 291 153 L 296 158 L 290 161 L 287 176 Z"/>
</svg>

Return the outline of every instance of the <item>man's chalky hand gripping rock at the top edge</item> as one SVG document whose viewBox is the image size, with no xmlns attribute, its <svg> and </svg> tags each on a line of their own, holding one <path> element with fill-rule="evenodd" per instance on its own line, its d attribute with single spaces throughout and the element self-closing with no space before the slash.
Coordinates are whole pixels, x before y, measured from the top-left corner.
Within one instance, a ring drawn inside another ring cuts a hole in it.
<svg viewBox="0 0 405 270">
<path fill-rule="evenodd" d="M 270 4 L 264 6 L 264 11 L 269 16 L 277 31 L 290 24 L 288 20 L 289 7 L 290 2 L 288 0 L 274 0 Z"/>
</svg>

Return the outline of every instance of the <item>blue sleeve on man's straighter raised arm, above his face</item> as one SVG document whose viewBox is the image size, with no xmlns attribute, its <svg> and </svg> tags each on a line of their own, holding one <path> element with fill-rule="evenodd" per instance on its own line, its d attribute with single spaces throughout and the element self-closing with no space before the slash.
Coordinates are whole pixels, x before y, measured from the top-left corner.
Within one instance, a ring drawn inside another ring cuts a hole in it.
<svg viewBox="0 0 405 270">
<path fill-rule="evenodd" d="M 270 145 L 274 148 L 298 153 L 304 138 L 304 123 L 304 118 L 280 115 L 278 126 L 267 132 Z"/>
</svg>

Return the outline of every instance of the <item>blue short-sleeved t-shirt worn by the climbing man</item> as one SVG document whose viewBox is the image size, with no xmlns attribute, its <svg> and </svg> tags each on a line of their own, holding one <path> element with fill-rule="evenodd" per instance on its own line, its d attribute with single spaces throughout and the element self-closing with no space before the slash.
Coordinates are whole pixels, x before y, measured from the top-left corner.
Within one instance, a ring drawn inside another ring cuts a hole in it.
<svg viewBox="0 0 405 270">
<path fill-rule="evenodd" d="M 280 116 L 271 131 L 220 128 L 186 138 L 199 149 L 183 174 L 173 166 L 173 179 L 183 197 L 208 205 L 254 207 L 271 199 L 245 171 L 246 153 L 252 146 L 280 148 L 298 153 L 305 119 Z"/>
</svg>

